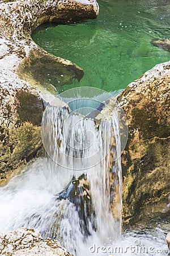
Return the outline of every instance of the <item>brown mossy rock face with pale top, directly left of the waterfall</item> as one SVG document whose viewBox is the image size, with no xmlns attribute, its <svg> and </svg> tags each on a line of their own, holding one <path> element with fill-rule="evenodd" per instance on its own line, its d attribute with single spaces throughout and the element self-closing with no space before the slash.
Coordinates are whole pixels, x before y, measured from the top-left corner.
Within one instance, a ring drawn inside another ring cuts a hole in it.
<svg viewBox="0 0 170 256">
<path fill-rule="evenodd" d="M 14 88 L 5 81 L 1 85 L 0 180 L 4 180 L 20 164 L 42 154 L 41 117 L 45 106 L 27 84 Z"/>
</svg>

